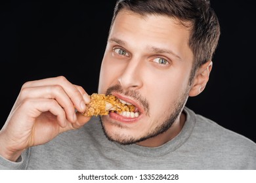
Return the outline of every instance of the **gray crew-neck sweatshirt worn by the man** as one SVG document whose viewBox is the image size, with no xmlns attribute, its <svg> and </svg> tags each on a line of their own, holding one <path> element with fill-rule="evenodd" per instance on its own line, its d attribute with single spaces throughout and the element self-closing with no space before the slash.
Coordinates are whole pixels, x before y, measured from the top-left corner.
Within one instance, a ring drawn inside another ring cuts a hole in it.
<svg viewBox="0 0 256 183">
<path fill-rule="evenodd" d="M 28 148 L 0 169 L 256 169 L 256 144 L 184 108 L 186 122 L 156 148 L 120 145 L 104 136 L 98 117 L 53 141 Z"/>
</svg>

